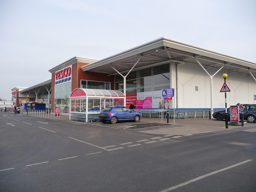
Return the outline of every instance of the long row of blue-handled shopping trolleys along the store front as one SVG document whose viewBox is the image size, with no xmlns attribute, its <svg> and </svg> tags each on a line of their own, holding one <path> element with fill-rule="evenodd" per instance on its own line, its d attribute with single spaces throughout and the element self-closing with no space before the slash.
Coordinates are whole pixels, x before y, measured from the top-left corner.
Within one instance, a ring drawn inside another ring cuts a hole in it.
<svg viewBox="0 0 256 192">
<path fill-rule="evenodd" d="M 216 108 L 214 111 L 223 110 L 222 108 Z M 137 112 L 141 113 L 144 118 L 167 118 L 167 112 L 169 112 L 169 118 L 175 119 L 189 119 L 189 118 L 209 118 L 209 109 L 136 109 Z"/>
</svg>

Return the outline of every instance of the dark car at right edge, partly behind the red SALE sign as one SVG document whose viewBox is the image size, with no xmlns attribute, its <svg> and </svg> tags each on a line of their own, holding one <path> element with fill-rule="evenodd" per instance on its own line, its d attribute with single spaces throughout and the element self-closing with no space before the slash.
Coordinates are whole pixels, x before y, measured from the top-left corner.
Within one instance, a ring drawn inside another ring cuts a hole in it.
<svg viewBox="0 0 256 192">
<path fill-rule="evenodd" d="M 230 111 L 227 109 L 228 120 L 230 120 Z M 225 119 L 225 110 L 216 111 L 212 114 L 213 118 L 216 118 L 218 121 Z M 241 114 L 240 117 L 241 119 Z M 254 123 L 256 121 L 256 104 L 244 104 L 244 120 L 247 120 L 249 123 Z"/>
</svg>

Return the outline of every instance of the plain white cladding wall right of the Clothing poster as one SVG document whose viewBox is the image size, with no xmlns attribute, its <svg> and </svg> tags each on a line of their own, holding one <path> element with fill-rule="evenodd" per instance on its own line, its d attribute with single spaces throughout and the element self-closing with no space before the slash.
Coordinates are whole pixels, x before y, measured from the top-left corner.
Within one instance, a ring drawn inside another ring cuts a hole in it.
<svg viewBox="0 0 256 192">
<path fill-rule="evenodd" d="M 206 68 L 210 75 L 217 69 Z M 256 82 L 252 76 L 220 70 L 213 77 L 213 108 L 225 108 L 225 94 L 220 92 L 224 84 L 222 74 L 228 74 L 226 84 L 227 106 L 237 103 L 253 104 Z M 198 86 L 196 91 L 195 86 Z M 199 65 L 182 64 L 178 66 L 178 108 L 210 108 L 210 76 Z"/>
</svg>

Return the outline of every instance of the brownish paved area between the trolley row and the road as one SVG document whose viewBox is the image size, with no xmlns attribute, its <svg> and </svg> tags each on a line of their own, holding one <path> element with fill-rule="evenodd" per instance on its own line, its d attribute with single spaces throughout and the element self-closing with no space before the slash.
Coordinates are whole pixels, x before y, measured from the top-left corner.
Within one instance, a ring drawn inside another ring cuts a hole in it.
<svg viewBox="0 0 256 192">
<path fill-rule="evenodd" d="M 61 120 L 68 120 L 68 116 L 61 116 Z M 198 134 L 206 132 L 214 132 L 219 130 L 228 130 L 232 128 L 242 128 L 241 125 L 231 126 L 228 125 L 226 129 L 225 121 L 217 121 L 216 119 L 209 118 L 193 118 L 193 119 L 169 119 L 169 124 L 167 124 L 167 119 L 161 118 L 141 118 L 141 122 L 152 122 L 162 124 L 162 128 L 159 126 L 156 129 L 151 128 L 151 130 L 140 131 L 148 134 L 161 134 L 161 135 L 186 135 L 186 134 Z M 230 123 L 230 122 L 228 122 Z M 241 122 L 240 122 L 241 124 Z M 177 126 L 175 126 L 177 125 Z M 170 126 L 170 128 L 168 128 Z M 244 123 L 245 127 L 256 128 L 256 123 Z"/>
</svg>

